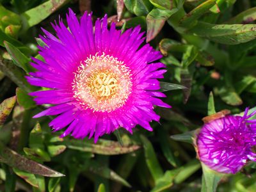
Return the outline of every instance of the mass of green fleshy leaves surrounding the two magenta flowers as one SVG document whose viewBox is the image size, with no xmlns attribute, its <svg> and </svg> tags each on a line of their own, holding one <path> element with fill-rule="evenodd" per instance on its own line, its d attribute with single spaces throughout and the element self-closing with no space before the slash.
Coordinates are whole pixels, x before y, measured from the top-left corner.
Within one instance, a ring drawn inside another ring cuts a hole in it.
<svg viewBox="0 0 256 192">
<path fill-rule="evenodd" d="M 215 191 L 218 182 L 220 191 L 253 191 L 255 164 L 246 174 L 220 175 L 204 165 L 201 172 L 188 144 L 215 108 L 239 113 L 255 104 L 253 6 L 250 0 L 0 0 L 0 191 Z M 173 108 L 156 109 L 163 119 L 152 123 L 154 132 L 138 127 L 131 136 L 120 129 L 95 144 L 59 138 L 48 126 L 52 116 L 32 118 L 44 109 L 29 97 L 38 88 L 24 77 L 34 70 L 30 56 L 42 60 L 36 45 L 43 42 L 34 37 L 40 27 L 51 31 L 50 22 L 68 7 L 77 15 L 108 13 L 124 30 L 140 24 L 162 52 L 168 72 L 161 90 Z"/>
</svg>

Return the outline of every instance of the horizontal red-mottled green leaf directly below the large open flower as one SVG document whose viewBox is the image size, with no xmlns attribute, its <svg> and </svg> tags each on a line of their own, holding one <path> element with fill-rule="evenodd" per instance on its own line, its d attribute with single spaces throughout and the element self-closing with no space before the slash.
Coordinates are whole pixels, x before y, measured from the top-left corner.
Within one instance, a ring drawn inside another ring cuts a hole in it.
<svg viewBox="0 0 256 192">
<path fill-rule="evenodd" d="M 61 142 L 62 143 L 62 142 Z M 116 141 L 110 140 L 98 140 L 97 143 L 93 143 L 91 140 L 64 140 L 62 144 L 65 144 L 67 148 L 72 148 L 75 150 L 80 150 L 84 152 L 92 152 L 93 154 L 101 155 L 118 155 L 118 154 L 127 154 L 138 150 L 139 145 L 129 145 L 129 146 L 120 146 Z"/>
</svg>

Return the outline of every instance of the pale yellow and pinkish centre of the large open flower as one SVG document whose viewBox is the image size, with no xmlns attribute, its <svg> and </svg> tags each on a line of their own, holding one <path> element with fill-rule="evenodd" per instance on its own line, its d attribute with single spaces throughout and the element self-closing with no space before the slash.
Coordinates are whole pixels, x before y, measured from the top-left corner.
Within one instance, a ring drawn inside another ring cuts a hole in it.
<svg viewBox="0 0 256 192">
<path fill-rule="evenodd" d="M 74 98 L 84 109 L 111 112 L 122 107 L 131 93 L 131 70 L 113 56 L 95 54 L 75 72 Z"/>
</svg>

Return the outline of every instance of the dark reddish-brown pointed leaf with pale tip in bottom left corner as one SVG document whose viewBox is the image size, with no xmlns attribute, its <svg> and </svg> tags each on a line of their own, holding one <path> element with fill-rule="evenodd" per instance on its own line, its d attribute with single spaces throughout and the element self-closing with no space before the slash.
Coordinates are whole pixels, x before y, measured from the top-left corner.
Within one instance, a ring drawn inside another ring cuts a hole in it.
<svg viewBox="0 0 256 192">
<path fill-rule="evenodd" d="M 20 154 L 17 154 L 17 152 L 14 150 L 5 147 L 3 143 L 0 143 L 0 161 L 8 164 L 9 166 L 12 166 L 13 168 L 17 168 L 19 170 L 33 174 L 43 175 L 45 177 L 65 176 L 59 172 L 51 170 L 47 166 L 36 163 L 35 161 L 27 159 L 26 157 L 20 156 Z"/>
</svg>

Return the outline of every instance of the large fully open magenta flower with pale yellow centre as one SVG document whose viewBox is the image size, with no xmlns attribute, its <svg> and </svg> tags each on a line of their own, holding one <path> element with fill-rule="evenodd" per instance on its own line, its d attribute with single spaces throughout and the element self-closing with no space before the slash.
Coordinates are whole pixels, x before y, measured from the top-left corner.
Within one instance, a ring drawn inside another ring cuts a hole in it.
<svg viewBox="0 0 256 192">
<path fill-rule="evenodd" d="M 60 20 L 52 24 L 58 38 L 44 31 L 39 47 L 45 61 L 33 58 L 37 69 L 29 73 L 28 82 L 50 88 L 30 93 L 36 104 L 51 104 L 35 118 L 58 115 L 49 124 L 53 131 L 67 129 L 61 137 L 92 138 L 118 127 L 132 133 L 136 125 L 152 131 L 149 122 L 159 121 L 154 106 L 170 108 L 161 99 L 158 78 L 166 72 L 163 63 L 152 63 L 162 56 L 143 43 L 140 26 L 124 33 L 108 20 L 92 24 L 92 15 L 84 13 L 77 20 L 72 10 L 67 15 L 68 29 Z"/>
</svg>

